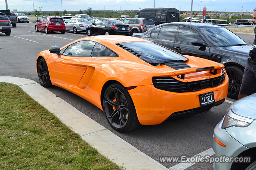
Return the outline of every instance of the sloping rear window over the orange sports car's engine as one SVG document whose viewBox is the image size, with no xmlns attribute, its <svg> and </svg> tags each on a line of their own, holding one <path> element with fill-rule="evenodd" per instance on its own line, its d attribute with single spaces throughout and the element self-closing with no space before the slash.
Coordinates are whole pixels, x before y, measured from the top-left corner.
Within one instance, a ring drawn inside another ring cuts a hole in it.
<svg viewBox="0 0 256 170">
<path fill-rule="evenodd" d="M 136 53 L 139 53 L 142 56 L 142 60 L 151 64 L 160 64 L 167 61 L 188 60 L 186 57 L 183 57 L 178 53 L 151 42 L 126 42 L 120 44 L 132 49 Z"/>
</svg>

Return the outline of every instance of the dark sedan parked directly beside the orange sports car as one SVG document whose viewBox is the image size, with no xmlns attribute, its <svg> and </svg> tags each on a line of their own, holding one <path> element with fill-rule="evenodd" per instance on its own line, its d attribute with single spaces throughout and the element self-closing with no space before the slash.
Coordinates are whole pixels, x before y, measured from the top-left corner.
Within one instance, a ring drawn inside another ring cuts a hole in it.
<svg viewBox="0 0 256 170">
<path fill-rule="evenodd" d="M 182 55 L 225 65 L 228 97 L 237 99 L 251 46 L 226 28 L 207 23 L 176 22 L 157 25 L 134 37 L 148 39 Z"/>
</svg>

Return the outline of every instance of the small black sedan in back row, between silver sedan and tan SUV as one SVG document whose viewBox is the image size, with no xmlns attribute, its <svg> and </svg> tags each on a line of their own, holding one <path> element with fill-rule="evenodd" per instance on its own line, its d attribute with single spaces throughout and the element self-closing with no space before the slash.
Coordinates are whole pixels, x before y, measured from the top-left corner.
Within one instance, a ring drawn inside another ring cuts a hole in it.
<svg viewBox="0 0 256 170">
<path fill-rule="evenodd" d="M 87 35 L 104 34 L 104 35 L 129 35 L 129 25 L 114 19 L 100 19 L 87 27 Z"/>
</svg>

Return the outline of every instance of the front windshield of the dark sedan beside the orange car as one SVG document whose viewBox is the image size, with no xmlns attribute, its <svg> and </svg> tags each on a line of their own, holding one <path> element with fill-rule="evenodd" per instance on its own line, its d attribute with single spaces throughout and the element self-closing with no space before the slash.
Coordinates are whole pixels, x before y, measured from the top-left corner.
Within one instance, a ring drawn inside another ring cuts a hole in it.
<svg viewBox="0 0 256 170">
<path fill-rule="evenodd" d="M 210 41 L 210 43 L 216 47 L 248 45 L 240 37 L 226 28 L 202 27 L 200 28 L 200 31 L 202 31 L 206 39 L 208 39 L 208 41 Z"/>
</svg>

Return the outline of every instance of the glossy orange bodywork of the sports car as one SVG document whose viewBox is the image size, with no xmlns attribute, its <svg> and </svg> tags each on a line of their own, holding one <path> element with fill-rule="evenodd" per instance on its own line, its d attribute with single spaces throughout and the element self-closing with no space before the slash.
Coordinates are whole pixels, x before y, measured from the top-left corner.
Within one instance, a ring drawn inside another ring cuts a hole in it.
<svg viewBox="0 0 256 170">
<path fill-rule="evenodd" d="M 156 76 L 171 76 L 181 82 L 214 78 L 221 75 L 223 64 L 198 57 L 184 56 L 188 58 L 185 63 L 191 68 L 175 70 L 162 64 L 152 66 L 115 45 L 123 42 L 151 41 L 118 35 L 86 37 L 69 43 L 61 49 L 78 41 L 95 41 L 105 45 L 119 56 L 72 57 L 52 54 L 48 50 L 42 51 L 38 57 L 44 57 L 46 60 L 52 84 L 84 98 L 102 110 L 102 87 L 108 80 L 116 80 L 124 87 L 137 86 L 128 92 L 142 125 L 159 124 L 174 112 L 200 107 L 199 94 L 214 92 L 215 102 L 225 99 L 228 94 L 227 75 L 219 86 L 195 92 L 168 92 L 155 88 L 152 83 L 152 77 Z M 217 74 L 210 74 L 209 71 L 196 72 L 197 68 L 208 66 L 214 66 L 214 69 L 217 69 Z M 184 79 L 176 77 L 181 74 L 185 74 Z"/>
</svg>

